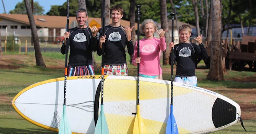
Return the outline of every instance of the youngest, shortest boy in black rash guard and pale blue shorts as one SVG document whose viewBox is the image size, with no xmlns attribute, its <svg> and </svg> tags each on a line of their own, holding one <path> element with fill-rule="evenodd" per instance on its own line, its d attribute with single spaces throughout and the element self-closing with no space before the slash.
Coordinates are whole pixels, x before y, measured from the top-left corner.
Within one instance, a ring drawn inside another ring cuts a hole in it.
<svg viewBox="0 0 256 134">
<path fill-rule="evenodd" d="M 204 48 L 204 43 L 202 42 L 202 35 L 194 38 L 199 45 L 191 43 L 189 38 L 191 36 L 191 27 L 189 24 L 184 24 L 179 27 L 180 41 L 181 43 L 176 44 L 170 43 L 170 55 L 172 54 L 173 48 L 173 63 L 171 63 L 171 56 L 169 58 L 169 64 L 176 65 L 176 76 L 174 81 L 179 83 L 191 84 L 197 86 L 197 78 L 195 74 L 195 61 L 196 57 L 202 57 L 207 59 L 207 52 Z"/>
</svg>

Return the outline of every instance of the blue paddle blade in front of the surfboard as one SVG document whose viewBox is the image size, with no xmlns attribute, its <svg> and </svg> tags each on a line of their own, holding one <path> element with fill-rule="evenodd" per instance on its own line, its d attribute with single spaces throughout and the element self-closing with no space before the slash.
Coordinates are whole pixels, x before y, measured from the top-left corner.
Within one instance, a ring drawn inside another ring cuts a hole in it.
<svg viewBox="0 0 256 134">
<path fill-rule="evenodd" d="M 178 134 L 178 127 L 173 115 L 173 105 L 171 105 L 171 112 L 166 125 L 166 134 Z"/>
</svg>

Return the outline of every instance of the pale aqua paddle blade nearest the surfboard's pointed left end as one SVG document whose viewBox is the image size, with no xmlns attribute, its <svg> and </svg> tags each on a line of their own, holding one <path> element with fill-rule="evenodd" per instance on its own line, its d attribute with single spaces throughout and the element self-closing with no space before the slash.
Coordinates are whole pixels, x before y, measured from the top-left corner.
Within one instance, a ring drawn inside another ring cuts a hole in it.
<svg viewBox="0 0 256 134">
<path fill-rule="evenodd" d="M 66 115 L 66 105 L 63 105 L 63 111 L 60 119 L 59 134 L 71 134 L 71 129 Z"/>
</svg>

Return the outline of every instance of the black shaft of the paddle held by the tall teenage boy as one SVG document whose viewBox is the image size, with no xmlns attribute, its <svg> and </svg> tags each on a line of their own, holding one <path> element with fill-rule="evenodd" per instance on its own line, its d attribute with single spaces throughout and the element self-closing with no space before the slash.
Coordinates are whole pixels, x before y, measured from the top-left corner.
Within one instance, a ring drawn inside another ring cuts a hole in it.
<svg viewBox="0 0 256 134">
<path fill-rule="evenodd" d="M 102 35 L 105 34 L 105 0 L 102 3 L 102 16 L 101 16 L 101 25 L 102 25 Z M 104 50 L 105 45 L 102 43 L 102 57 L 101 57 L 101 105 L 103 105 L 103 82 L 104 82 Z"/>
</svg>

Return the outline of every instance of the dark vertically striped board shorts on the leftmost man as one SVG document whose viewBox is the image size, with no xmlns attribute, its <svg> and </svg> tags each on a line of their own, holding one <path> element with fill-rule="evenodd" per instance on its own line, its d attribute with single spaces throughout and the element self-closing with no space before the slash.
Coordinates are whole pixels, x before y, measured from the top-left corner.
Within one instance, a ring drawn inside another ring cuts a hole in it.
<svg viewBox="0 0 256 134">
<path fill-rule="evenodd" d="M 93 65 L 68 67 L 67 76 L 95 75 Z"/>
</svg>

